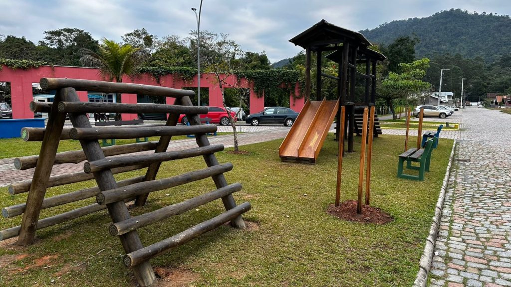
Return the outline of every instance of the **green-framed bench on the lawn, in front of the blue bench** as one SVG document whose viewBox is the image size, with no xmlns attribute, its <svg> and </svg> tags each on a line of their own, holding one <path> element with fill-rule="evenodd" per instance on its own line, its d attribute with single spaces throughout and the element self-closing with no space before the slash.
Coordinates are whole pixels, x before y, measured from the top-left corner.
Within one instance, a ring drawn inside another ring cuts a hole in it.
<svg viewBox="0 0 511 287">
<path fill-rule="evenodd" d="M 424 180 L 424 173 L 429 172 L 429 164 L 431 161 L 431 151 L 433 150 L 433 142 L 435 138 L 430 138 L 426 141 L 424 149 L 409 149 L 406 152 L 399 155 L 398 163 L 398 177 L 413 179 L 413 180 Z M 404 161 L 406 160 L 406 168 L 409 170 L 419 171 L 419 175 L 410 175 L 403 172 Z M 419 166 L 413 166 L 412 162 L 419 162 Z"/>
</svg>

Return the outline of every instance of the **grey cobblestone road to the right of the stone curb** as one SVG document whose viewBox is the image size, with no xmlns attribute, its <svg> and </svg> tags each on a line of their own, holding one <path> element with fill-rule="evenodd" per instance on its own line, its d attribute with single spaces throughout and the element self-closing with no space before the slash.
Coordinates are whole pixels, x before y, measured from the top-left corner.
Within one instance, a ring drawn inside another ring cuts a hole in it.
<svg viewBox="0 0 511 287">
<path fill-rule="evenodd" d="M 430 286 L 511 286 L 511 115 L 462 113 Z"/>
</svg>

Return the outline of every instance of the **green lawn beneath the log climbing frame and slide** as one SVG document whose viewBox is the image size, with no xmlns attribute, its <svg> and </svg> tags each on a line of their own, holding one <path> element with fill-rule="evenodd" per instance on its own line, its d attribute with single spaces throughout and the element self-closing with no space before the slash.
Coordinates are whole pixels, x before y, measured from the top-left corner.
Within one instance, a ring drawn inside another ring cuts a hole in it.
<svg viewBox="0 0 511 287">
<path fill-rule="evenodd" d="M 251 203 L 252 209 L 244 218 L 257 222 L 259 227 L 238 230 L 222 226 L 155 257 L 151 260 L 153 267 L 187 270 L 192 274 L 191 286 L 410 286 L 419 270 L 453 141 L 440 140 L 432 154 L 431 172 L 425 181 L 417 182 L 396 176 L 404 137 L 384 135 L 375 139 L 371 205 L 394 218 L 386 225 L 346 222 L 326 212 L 335 199 L 337 142 L 332 134 L 316 165 L 281 162 L 281 142 L 243 146 L 248 155 L 217 154 L 220 162 L 233 162 L 235 169 L 226 173 L 227 181 L 243 184 L 235 199 Z M 355 150 L 360 151 L 360 137 L 356 137 Z M 359 152 L 345 156 L 342 201 L 356 199 L 359 160 Z M 202 158 L 166 162 L 159 177 L 204 167 Z M 136 171 L 117 178 L 143 174 Z M 92 184 L 88 181 L 53 187 L 48 195 Z M 131 208 L 130 213 L 135 216 L 214 189 L 213 181 L 207 179 L 162 190 L 151 194 L 145 207 Z M 9 196 L 6 187 L 0 188 L 3 206 L 24 202 L 25 198 Z M 43 210 L 41 216 L 83 205 L 79 202 Z M 138 231 L 148 245 L 223 210 L 217 200 Z M 1 219 L 0 228 L 19 222 L 19 217 Z M 0 265 L 9 258 L 13 261 L 0 268 L 0 285 L 134 285 L 132 272 L 122 263 L 124 251 L 119 238 L 108 234 L 109 223 L 107 212 L 100 211 L 39 230 L 36 244 L 27 248 L 0 242 Z M 18 259 L 12 259 L 14 256 Z M 41 258 L 50 259 L 34 267 Z"/>
</svg>

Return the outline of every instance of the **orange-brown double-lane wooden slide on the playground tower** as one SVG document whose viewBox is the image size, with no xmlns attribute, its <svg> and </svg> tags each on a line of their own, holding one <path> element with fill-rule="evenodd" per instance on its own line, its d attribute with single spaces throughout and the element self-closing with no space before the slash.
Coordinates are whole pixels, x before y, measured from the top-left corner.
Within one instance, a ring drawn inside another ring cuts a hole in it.
<svg viewBox="0 0 511 287">
<path fill-rule="evenodd" d="M 278 148 L 282 161 L 315 163 L 332 126 L 339 101 L 307 101 Z"/>
</svg>

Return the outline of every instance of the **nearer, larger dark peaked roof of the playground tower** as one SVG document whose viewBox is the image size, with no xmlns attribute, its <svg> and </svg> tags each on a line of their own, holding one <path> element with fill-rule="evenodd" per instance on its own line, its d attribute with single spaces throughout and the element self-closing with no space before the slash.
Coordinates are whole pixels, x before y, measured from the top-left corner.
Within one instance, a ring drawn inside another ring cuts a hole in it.
<svg viewBox="0 0 511 287">
<path fill-rule="evenodd" d="M 364 35 L 335 26 L 324 19 L 289 41 L 295 45 L 303 47 L 304 49 L 307 46 L 311 46 L 312 50 L 316 50 L 318 47 L 342 43 L 345 39 L 350 40 L 352 43 L 359 46 L 371 45 Z"/>
</svg>

